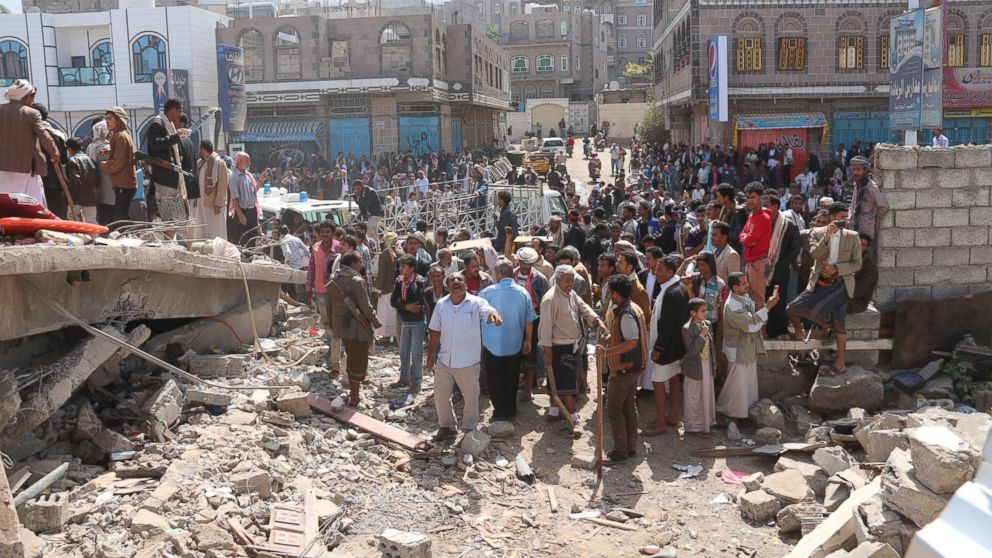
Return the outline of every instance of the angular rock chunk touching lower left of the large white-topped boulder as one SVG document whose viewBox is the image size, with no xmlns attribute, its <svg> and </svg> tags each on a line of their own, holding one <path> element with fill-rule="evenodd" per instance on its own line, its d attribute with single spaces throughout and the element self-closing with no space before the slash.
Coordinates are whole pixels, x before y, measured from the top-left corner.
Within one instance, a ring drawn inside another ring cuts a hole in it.
<svg viewBox="0 0 992 558">
<path fill-rule="evenodd" d="M 882 471 L 882 502 L 923 527 L 940 514 L 948 498 L 924 486 L 914 473 L 909 452 L 894 450 Z"/>
</svg>

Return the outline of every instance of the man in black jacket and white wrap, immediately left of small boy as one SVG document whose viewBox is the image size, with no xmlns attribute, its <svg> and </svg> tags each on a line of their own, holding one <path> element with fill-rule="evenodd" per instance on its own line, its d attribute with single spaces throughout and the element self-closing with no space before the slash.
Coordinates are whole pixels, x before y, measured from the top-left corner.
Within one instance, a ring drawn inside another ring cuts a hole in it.
<svg viewBox="0 0 992 558">
<path fill-rule="evenodd" d="M 678 270 L 678 260 L 673 256 L 663 257 L 655 267 L 655 275 L 661 282 L 661 294 L 651 310 L 651 327 L 648 345 L 651 348 L 651 382 L 654 384 L 654 401 L 657 407 L 656 429 L 644 433 L 645 436 L 664 434 L 668 425 L 677 426 L 681 408 L 682 388 L 679 382 L 680 362 L 685 356 L 682 344 L 682 326 L 689 319 L 689 295 L 682 285 Z M 665 413 L 665 391 L 671 394 L 669 412 Z"/>
</svg>

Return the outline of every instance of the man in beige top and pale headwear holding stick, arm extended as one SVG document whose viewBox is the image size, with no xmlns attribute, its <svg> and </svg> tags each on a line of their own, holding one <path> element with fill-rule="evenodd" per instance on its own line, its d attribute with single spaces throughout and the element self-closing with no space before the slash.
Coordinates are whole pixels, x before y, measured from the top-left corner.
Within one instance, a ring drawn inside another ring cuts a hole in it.
<svg viewBox="0 0 992 558">
<path fill-rule="evenodd" d="M 596 325 L 601 334 L 608 333 L 606 325 L 596 312 L 572 291 L 575 268 L 560 265 L 553 276 L 554 288 L 541 300 L 541 322 L 538 325 L 538 346 L 543 347 L 544 365 L 548 368 L 551 388 L 551 406 L 546 416 L 548 422 L 568 419 L 573 427 L 578 421 L 575 395 L 579 354 L 586 344 L 582 325 Z M 565 416 L 567 413 L 567 416 Z"/>
</svg>

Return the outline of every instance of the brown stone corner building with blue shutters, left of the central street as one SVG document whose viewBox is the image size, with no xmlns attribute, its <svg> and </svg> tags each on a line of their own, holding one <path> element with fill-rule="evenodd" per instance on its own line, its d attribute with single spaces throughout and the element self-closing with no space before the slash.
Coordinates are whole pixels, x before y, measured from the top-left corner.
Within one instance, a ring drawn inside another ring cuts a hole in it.
<svg viewBox="0 0 992 558">
<path fill-rule="evenodd" d="M 493 147 L 505 136 L 509 59 L 469 24 L 412 15 L 235 19 L 256 159 Z M 501 145 L 501 143 L 500 143 Z"/>
</svg>

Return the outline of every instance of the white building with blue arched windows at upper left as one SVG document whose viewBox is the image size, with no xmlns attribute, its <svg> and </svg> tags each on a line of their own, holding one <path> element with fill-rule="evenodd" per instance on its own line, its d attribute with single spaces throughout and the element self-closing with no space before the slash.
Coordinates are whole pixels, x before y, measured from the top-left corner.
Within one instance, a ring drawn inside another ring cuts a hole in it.
<svg viewBox="0 0 992 558">
<path fill-rule="evenodd" d="M 78 11 L 99 3 L 39 0 L 26 7 L 61 13 L 0 15 L 0 86 L 29 79 L 52 124 L 81 138 L 108 107 L 119 105 L 140 143 L 154 113 L 152 76 L 158 70 L 188 72 L 186 112 L 192 119 L 217 106 L 214 30 L 226 16 L 190 6 L 155 8 L 151 2 Z M 210 124 L 201 134 L 212 132 Z"/>
</svg>

